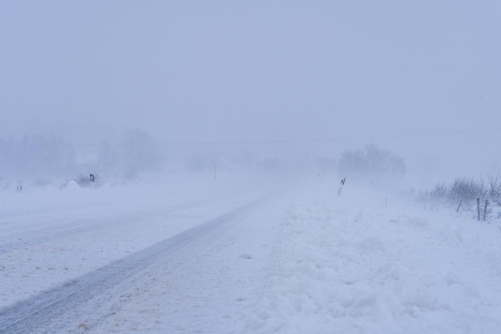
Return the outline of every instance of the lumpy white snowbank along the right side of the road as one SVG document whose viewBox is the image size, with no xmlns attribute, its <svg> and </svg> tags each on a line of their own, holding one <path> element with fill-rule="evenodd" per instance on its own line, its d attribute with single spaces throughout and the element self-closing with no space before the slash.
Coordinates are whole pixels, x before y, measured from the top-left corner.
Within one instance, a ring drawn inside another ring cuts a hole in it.
<svg viewBox="0 0 501 334">
<path fill-rule="evenodd" d="M 498 226 L 357 190 L 288 209 L 249 332 L 501 332 Z"/>
</svg>

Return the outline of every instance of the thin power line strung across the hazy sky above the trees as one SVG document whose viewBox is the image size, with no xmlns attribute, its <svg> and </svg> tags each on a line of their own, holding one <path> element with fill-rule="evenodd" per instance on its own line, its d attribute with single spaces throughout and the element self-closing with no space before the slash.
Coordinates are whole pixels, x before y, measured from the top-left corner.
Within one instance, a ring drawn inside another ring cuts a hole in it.
<svg viewBox="0 0 501 334">
<path fill-rule="evenodd" d="M 431 136 L 431 135 L 448 135 L 456 133 L 467 132 L 482 132 L 482 131 L 495 131 L 501 128 L 491 129 L 477 129 L 477 130 L 459 130 L 459 131 L 442 131 L 442 132 L 425 132 L 425 133 L 412 133 L 400 135 L 383 135 L 383 136 L 363 136 L 363 137 L 339 137 L 339 138 L 324 138 L 324 139 L 290 139 L 290 140 L 257 140 L 257 141 L 237 141 L 237 142 L 186 142 L 186 143 L 153 143 L 151 145 L 223 145 L 223 144 L 267 144 L 267 143 L 301 143 L 301 142 L 323 142 L 323 141 L 337 141 L 337 140 L 353 140 L 353 139 L 378 139 L 378 138 L 397 138 L 397 137 L 417 137 L 417 136 Z M 73 145 L 101 145 L 101 144 L 73 144 Z M 110 145 L 128 145 L 128 144 L 110 144 Z"/>
</svg>

